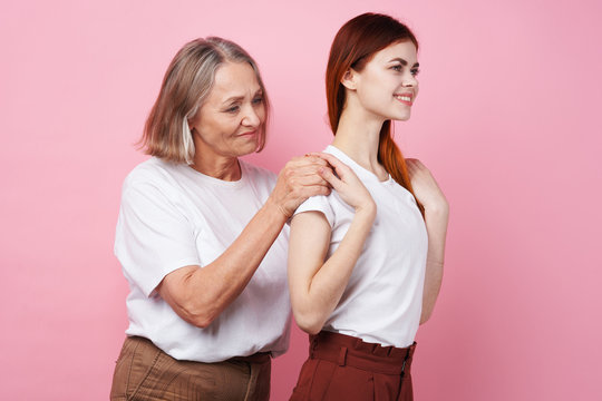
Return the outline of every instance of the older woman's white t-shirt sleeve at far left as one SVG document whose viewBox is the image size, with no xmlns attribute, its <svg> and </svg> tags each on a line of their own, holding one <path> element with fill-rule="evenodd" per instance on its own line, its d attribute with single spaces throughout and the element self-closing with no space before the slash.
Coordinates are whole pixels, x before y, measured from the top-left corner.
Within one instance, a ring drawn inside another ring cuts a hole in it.
<svg viewBox="0 0 602 401">
<path fill-rule="evenodd" d="M 201 264 L 193 225 L 173 196 L 153 183 L 124 184 L 115 255 L 146 296 L 168 273 Z"/>
</svg>

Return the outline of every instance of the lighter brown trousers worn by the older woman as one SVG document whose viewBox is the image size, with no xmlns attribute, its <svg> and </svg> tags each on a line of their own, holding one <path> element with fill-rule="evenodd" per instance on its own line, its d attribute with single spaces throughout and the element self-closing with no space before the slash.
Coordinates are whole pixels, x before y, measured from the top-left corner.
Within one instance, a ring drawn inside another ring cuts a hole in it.
<svg viewBox="0 0 602 401">
<path fill-rule="evenodd" d="M 149 340 L 128 336 L 117 360 L 111 400 L 232 400 L 270 399 L 269 353 L 224 362 L 178 361 Z"/>
</svg>

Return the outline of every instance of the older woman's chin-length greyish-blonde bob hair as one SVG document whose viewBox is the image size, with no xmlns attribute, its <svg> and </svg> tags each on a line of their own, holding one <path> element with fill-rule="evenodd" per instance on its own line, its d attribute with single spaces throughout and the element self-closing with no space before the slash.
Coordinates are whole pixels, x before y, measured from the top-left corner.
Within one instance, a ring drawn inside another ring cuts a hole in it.
<svg viewBox="0 0 602 401">
<path fill-rule="evenodd" d="M 215 71 L 225 62 L 249 62 L 253 68 L 263 92 L 268 123 L 270 104 L 255 60 L 230 40 L 195 39 L 179 49 L 165 72 L 139 141 L 145 154 L 166 162 L 193 163 L 195 149 L 188 120 L 203 106 L 213 87 Z M 255 151 L 261 151 L 265 145 L 266 123 L 261 126 Z"/>
</svg>

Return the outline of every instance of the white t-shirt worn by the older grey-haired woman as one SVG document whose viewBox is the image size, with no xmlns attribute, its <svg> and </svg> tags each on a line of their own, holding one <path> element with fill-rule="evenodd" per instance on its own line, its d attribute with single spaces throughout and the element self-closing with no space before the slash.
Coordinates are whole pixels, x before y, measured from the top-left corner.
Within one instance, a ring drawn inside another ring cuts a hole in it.
<svg viewBox="0 0 602 401">
<path fill-rule="evenodd" d="M 241 179 L 225 182 L 151 158 L 123 186 L 115 255 L 130 287 L 126 334 L 147 338 L 178 360 L 219 362 L 265 351 L 279 355 L 289 346 L 288 227 L 246 288 L 205 329 L 182 320 L 155 291 L 166 274 L 213 262 L 263 206 L 275 175 L 240 165 Z"/>
</svg>

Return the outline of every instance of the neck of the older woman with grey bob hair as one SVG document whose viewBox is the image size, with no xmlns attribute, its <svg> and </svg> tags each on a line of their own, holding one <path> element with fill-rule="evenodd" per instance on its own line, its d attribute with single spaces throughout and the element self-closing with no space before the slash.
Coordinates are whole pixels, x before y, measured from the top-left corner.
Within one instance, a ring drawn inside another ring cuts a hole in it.
<svg viewBox="0 0 602 401">
<path fill-rule="evenodd" d="M 195 151 L 192 168 L 206 176 L 235 182 L 241 179 L 241 166 L 239 159 L 233 156 L 223 156 L 215 153 L 202 140 L 194 140 Z"/>
</svg>

